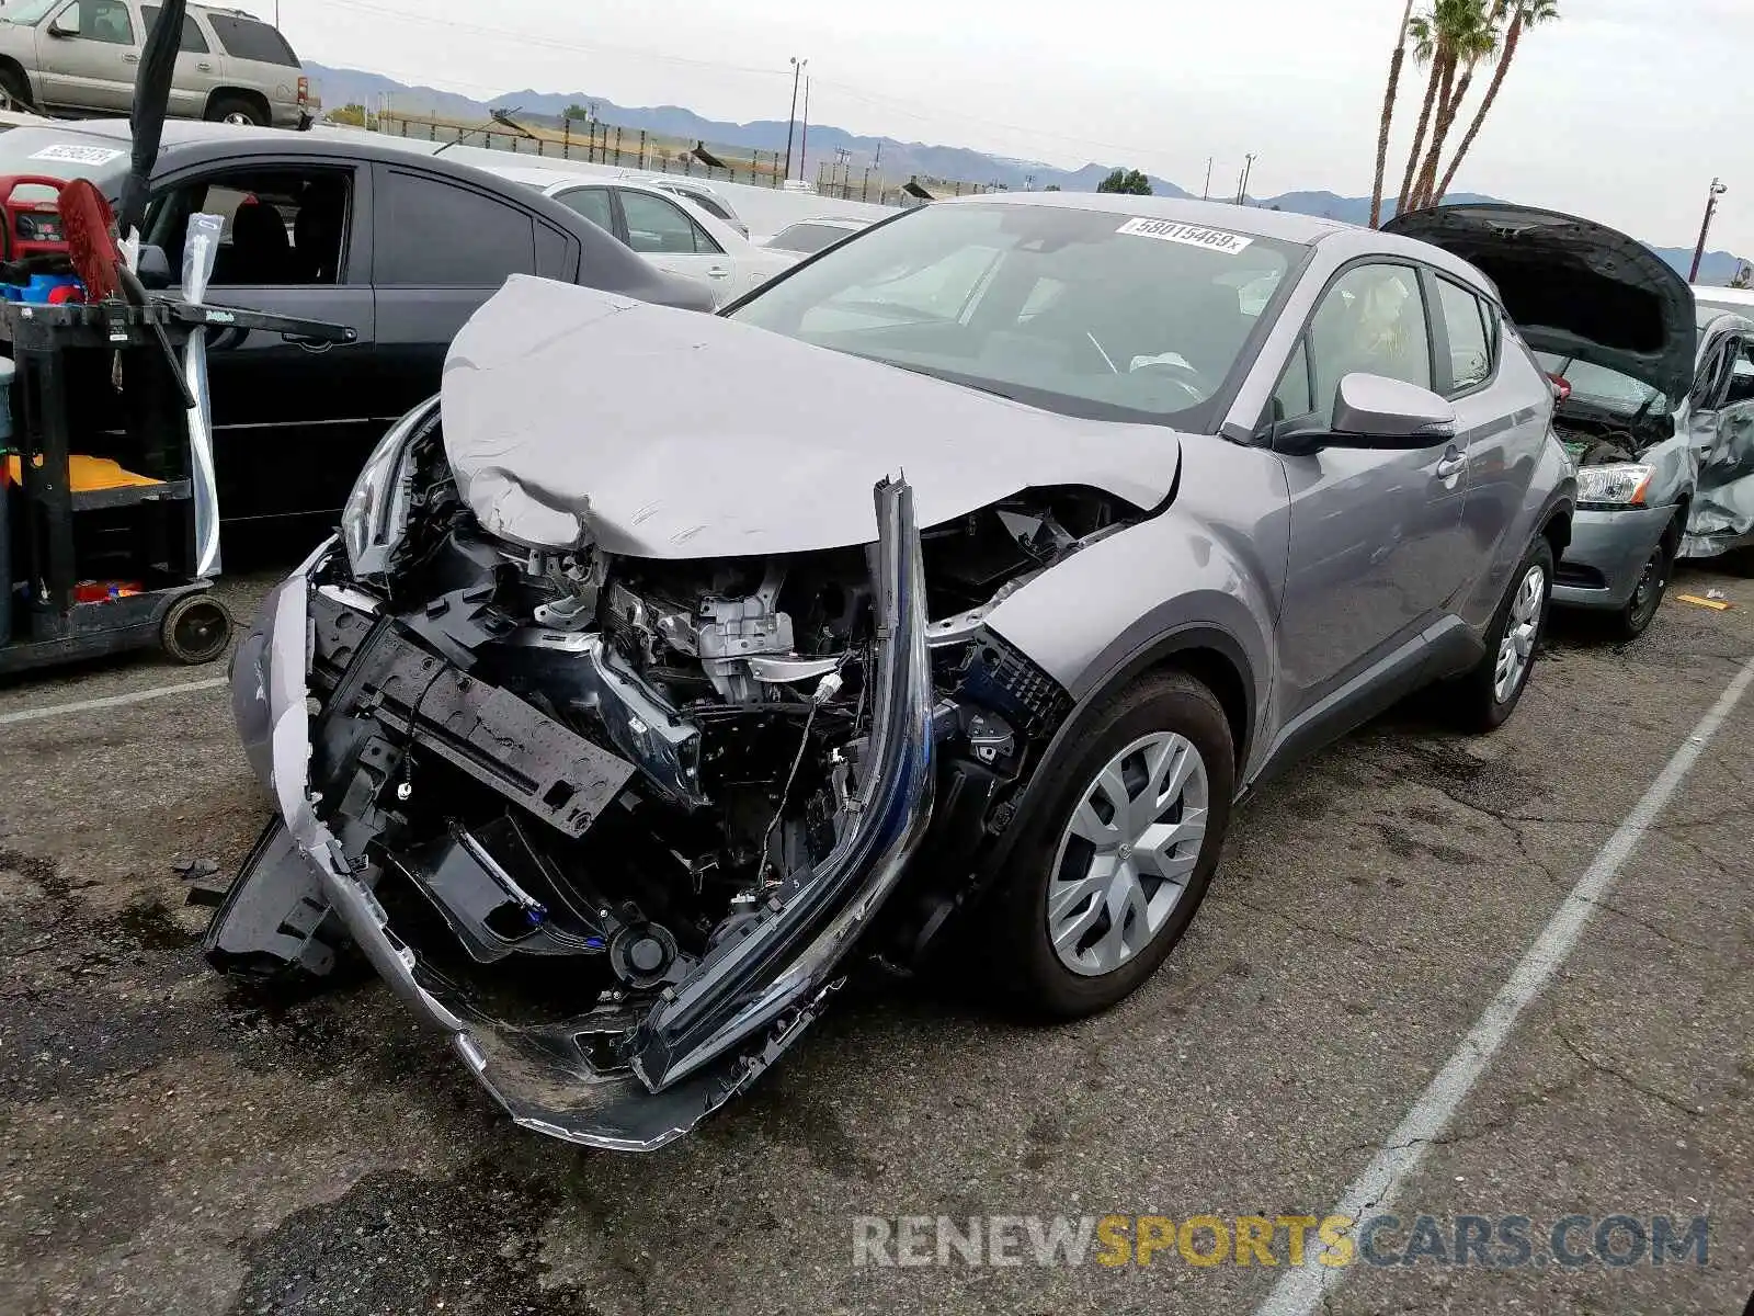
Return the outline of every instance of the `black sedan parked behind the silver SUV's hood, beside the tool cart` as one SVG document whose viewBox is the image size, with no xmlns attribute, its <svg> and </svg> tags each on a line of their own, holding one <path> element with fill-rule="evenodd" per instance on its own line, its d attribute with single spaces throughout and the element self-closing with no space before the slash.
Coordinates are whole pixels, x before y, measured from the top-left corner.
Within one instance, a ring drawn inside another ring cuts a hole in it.
<svg viewBox="0 0 1754 1316">
<path fill-rule="evenodd" d="M 114 202 L 128 125 L 0 135 L 0 175 L 88 177 Z M 391 421 L 438 391 L 463 321 L 510 274 L 710 309 L 588 219 L 442 156 L 353 133 L 167 123 L 142 240 L 182 270 L 189 216 L 225 219 L 210 302 L 347 325 L 347 346 L 232 330 L 209 344 L 214 463 L 228 539 L 324 525 Z M 102 409 L 105 390 L 91 390 Z M 102 425 L 102 416 L 91 423 Z M 314 542 L 314 540 L 312 540 Z"/>
</svg>

